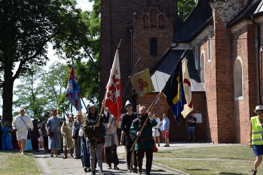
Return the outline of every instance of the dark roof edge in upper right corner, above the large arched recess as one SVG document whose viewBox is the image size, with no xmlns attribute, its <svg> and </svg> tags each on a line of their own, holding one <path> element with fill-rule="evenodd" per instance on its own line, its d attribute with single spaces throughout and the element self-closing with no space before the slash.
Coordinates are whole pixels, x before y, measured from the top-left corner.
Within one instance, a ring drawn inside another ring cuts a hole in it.
<svg viewBox="0 0 263 175">
<path fill-rule="evenodd" d="M 262 0 L 250 0 L 245 8 L 234 18 L 232 19 L 227 26 L 231 27 L 232 25 L 244 20 L 251 19 L 253 15 L 260 15 L 263 12 L 263 1 Z"/>
</svg>

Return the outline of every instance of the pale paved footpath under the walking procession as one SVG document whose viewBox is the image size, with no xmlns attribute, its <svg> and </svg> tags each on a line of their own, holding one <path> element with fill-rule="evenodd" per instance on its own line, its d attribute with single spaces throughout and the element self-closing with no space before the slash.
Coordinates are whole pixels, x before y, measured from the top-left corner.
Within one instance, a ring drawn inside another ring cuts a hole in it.
<svg viewBox="0 0 263 175">
<path fill-rule="evenodd" d="M 161 150 L 171 150 L 171 149 L 179 149 L 179 148 L 197 148 L 197 147 L 208 147 L 208 146 L 215 146 L 215 145 L 206 145 L 206 144 L 198 144 L 198 143 L 188 143 L 188 142 L 174 142 L 170 143 L 170 147 L 163 147 L 165 144 L 161 144 L 160 147 L 157 147 L 160 151 Z M 222 146 L 222 145 L 220 145 Z M 35 153 L 34 157 L 35 160 L 40 167 L 41 174 L 48 175 L 48 174 L 91 174 L 90 172 L 85 173 L 84 169 L 81 164 L 80 159 L 74 159 L 72 157 L 68 157 L 67 159 L 62 159 L 64 154 L 58 157 L 50 157 L 49 153 L 45 153 L 43 149 L 40 149 L 41 152 Z M 117 148 L 118 153 L 124 153 L 124 147 Z M 154 155 L 153 155 L 154 156 Z M 145 157 L 144 157 L 145 159 Z M 143 173 L 145 174 L 145 164 L 143 162 Z M 107 169 L 107 164 L 103 162 L 103 172 L 106 175 L 116 174 L 116 175 L 137 175 L 137 173 L 127 172 L 126 171 L 126 161 L 125 158 L 119 156 L 119 170 L 115 169 Z M 113 165 L 112 165 L 113 167 Z M 98 174 L 98 173 L 96 173 Z M 161 175 L 161 174 L 169 174 L 169 175 L 178 175 L 178 174 L 185 174 L 175 169 L 170 169 L 165 165 L 158 165 L 152 164 L 152 172 L 151 175 Z M 186 174 L 185 174 L 186 175 Z"/>
</svg>

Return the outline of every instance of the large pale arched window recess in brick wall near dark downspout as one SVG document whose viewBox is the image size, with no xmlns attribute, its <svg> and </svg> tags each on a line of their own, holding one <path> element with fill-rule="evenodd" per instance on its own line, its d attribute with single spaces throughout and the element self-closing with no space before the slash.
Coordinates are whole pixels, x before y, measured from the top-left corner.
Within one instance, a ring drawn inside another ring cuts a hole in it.
<svg viewBox="0 0 263 175">
<path fill-rule="evenodd" d="M 234 89 L 235 89 L 235 100 L 244 100 L 243 65 L 242 65 L 242 60 L 239 56 L 236 58 L 234 65 Z"/>
</svg>

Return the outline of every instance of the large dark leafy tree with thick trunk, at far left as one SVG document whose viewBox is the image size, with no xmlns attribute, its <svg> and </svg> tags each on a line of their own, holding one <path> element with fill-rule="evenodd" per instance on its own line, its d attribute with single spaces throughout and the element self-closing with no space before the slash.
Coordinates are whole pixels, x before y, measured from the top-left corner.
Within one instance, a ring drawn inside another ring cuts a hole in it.
<svg viewBox="0 0 263 175">
<path fill-rule="evenodd" d="M 0 1 L 3 121 L 12 120 L 15 79 L 30 71 L 30 65 L 46 65 L 48 42 L 58 55 L 64 52 L 65 56 L 61 57 L 70 58 L 79 53 L 88 26 L 75 5 L 75 0 Z M 15 65 L 18 65 L 16 71 Z"/>
</svg>

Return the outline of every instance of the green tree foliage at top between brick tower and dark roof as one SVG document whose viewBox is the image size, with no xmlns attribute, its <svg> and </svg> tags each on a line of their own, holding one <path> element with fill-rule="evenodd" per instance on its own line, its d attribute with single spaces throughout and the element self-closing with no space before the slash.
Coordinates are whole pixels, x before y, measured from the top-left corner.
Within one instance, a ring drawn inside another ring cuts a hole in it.
<svg viewBox="0 0 263 175">
<path fill-rule="evenodd" d="M 187 16 L 194 10 L 196 0 L 177 0 L 178 18 L 184 21 Z"/>
</svg>

